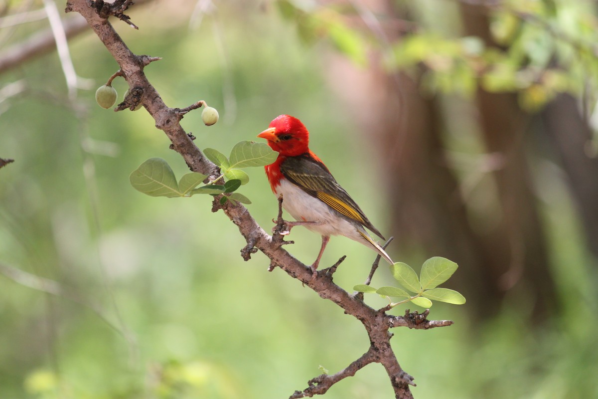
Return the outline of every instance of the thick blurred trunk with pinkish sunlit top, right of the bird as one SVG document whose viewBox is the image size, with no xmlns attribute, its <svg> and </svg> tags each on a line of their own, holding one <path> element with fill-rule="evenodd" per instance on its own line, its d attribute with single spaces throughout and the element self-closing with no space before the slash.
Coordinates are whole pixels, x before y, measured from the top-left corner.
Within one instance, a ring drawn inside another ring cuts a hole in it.
<svg viewBox="0 0 598 399">
<path fill-rule="evenodd" d="M 355 117 L 379 154 L 379 169 L 385 170 L 390 234 L 395 236 L 389 252 L 400 261 L 443 256 L 457 262 L 451 287 L 465 295 L 475 316 L 492 316 L 504 296 L 497 282 L 508 263 L 501 256 L 504 249 L 488 245 L 469 224 L 444 153 L 438 99 L 423 97 L 419 84 L 404 74 L 359 70 L 343 57 L 333 60 L 329 80 L 341 98 L 368 93 Z"/>
</svg>

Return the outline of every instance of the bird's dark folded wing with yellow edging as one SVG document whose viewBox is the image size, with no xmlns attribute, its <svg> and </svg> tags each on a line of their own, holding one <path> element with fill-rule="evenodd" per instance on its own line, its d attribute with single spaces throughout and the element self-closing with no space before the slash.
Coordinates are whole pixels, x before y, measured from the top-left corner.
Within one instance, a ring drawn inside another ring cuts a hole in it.
<svg viewBox="0 0 598 399">
<path fill-rule="evenodd" d="M 301 190 L 326 203 L 332 209 L 345 217 L 362 224 L 374 234 L 385 239 L 374 227 L 359 205 L 337 183 L 328 168 L 323 163 L 313 159 L 309 153 L 288 157 L 280 165 L 280 171 Z"/>
</svg>

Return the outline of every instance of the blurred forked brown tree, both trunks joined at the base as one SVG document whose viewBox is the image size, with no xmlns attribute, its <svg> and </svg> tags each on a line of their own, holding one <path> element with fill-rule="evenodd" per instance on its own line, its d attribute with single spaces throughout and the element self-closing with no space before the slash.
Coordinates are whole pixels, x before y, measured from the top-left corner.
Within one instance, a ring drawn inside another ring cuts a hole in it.
<svg viewBox="0 0 598 399">
<path fill-rule="evenodd" d="M 372 0 L 368 7 L 390 19 L 403 17 L 391 2 Z M 462 10 L 467 33 L 488 40 L 486 17 L 469 13 L 468 6 Z M 498 311 L 508 290 L 532 303 L 536 318 L 547 315 L 554 287 L 526 162 L 523 135 L 529 117 L 520 111 L 515 96 L 480 90 L 474 104 L 487 150 L 502 160 L 493 175 L 499 223 L 490 233 L 480 234 L 469 223 L 459 181 L 445 156 L 444 118 L 454 116 L 443 115 L 441 99 L 423 96 L 419 83 L 402 73 L 389 75 L 373 59 L 373 66 L 357 70 L 335 57 L 329 76 L 341 98 L 367 94 L 355 117 L 361 131 L 368 133 L 367 142 L 376 145 L 386 171 L 389 217 L 397 238 L 390 252 L 398 260 L 423 251 L 419 258 L 438 255 L 456 261 L 460 269 L 451 279 L 452 287 L 467 297 L 476 316 Z M 397 246 L 398 253 L 392 249 Z"/>
</svg>

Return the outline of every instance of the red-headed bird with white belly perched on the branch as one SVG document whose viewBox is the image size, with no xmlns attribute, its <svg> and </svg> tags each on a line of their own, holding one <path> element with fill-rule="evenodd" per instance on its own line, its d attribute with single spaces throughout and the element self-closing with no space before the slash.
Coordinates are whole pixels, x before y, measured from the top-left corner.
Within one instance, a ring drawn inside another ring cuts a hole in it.
<svg viewBox="0 0 598 399">
<path fill-rule="evenodd" d="M 300 120 L 280 115 L 258 137 L 266 139 L 279 153 L 265 169 L 272 191 L 276 196 L 282 194 L 283 208 L 296 220 L 287 222 L 288 230 L 303 225 L 322 236 L 322 248 L 312 264 L 314 276 L 330 236 L 336 235 L 360 242 L 393 263 L 364 227 L 384 239 L 382 234 L 340 187 L 324 162 L 310 151 L 309 132 Z"/>
</svg>

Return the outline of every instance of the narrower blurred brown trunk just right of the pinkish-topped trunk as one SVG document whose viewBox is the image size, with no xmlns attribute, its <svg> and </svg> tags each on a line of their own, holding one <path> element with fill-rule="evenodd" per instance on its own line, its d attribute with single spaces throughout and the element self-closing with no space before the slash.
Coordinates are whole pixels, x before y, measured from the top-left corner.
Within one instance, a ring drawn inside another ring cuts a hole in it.
<svg viewBox="0 0 598 399">
<path fill-rule="evenodd" d="M 480 37 L 489 47 L 496 46 L 490 36 L 487 8 L 460 3 L 460 9 L 464 34 Z M 501 285 L 508 289 L 523 284 L 526 297 L 534 301 L 535 314 L 547 315 L 555 303 L 554 282 L 526 159 L 524 135 L 529 117 L 512 93 L 478 89 L 477 108 L 487 150 L 504 157 L 504 167 L 495 172 L 502 221 L 492 240 L 496 254 L 510 265 Z"/>
</svg>

